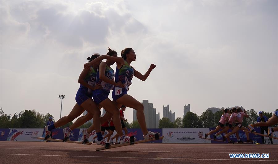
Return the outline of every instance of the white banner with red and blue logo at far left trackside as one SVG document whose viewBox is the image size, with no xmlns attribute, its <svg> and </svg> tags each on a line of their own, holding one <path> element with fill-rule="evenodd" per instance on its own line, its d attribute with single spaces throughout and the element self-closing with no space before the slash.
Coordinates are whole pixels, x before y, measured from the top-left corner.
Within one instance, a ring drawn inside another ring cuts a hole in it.
<svg viewBox="0 0 278 164">
<path fill-rule="evenodd" d="M 40 141 L 44 129 L 11 129 L 6 141 Z"/>
</svg>

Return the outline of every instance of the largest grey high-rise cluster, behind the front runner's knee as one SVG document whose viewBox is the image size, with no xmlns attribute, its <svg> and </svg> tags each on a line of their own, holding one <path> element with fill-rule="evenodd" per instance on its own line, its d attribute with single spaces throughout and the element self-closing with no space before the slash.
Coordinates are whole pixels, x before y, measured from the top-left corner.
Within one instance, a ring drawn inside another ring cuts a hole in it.
<svg viewBox="0 0 278 164">
<path fill-rule="evenodd" d="M 149 103 L 149 100 L 143 100 L 142 102 L 144 106 L 144 115 L 145 115 L 145 121 L 147 128 L 156 128 L 158 122 L 157 122 L 157 114 L 156 114 L 156 108 L 154 108 L 153 103 Z M 137 120 L 137 111 L 133 109 L 133 121 Z M 159 115 L 158 115 L 159 117 Z M 159 121 L 159 118 L 158 118 Z"/>
</svg>

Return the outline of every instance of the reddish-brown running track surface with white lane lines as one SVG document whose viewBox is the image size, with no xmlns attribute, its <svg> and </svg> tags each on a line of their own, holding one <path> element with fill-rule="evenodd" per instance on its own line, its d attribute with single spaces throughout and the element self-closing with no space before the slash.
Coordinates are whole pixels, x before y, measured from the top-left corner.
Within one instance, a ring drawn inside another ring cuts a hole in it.
<svg viewBox="0 0 278 164">
<path fill-rule="evenodd" d="M 1 163 L 278 163 L 277 145 L 136 144 L 95 151 L 99 145 L 1 141 Z M 229 153 L 269 153 L 268 159 L 231 159 Z"/>
</svg>

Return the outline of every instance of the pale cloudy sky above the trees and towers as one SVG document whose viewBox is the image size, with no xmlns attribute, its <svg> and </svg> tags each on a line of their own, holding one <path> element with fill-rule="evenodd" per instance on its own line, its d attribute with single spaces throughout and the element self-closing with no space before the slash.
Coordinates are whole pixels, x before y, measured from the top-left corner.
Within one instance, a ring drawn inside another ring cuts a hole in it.
<svg viewBox="0 0 278 164">
<path fill-rule="evenodd" d="M 128 93 L 148 99 L 160 118 L 167 104 L 176 117 L 188 103 L 198 115 L 208 107 L 278 108 L 277 1 L 0 3 L 6 114 L 35 109 L 58 120 L 64 94 L 67 115 L 87 57 L 107 47 L 132 47 L 142 74 L 157 65 L 145 82 L 133 78 Z"/>
</svg>

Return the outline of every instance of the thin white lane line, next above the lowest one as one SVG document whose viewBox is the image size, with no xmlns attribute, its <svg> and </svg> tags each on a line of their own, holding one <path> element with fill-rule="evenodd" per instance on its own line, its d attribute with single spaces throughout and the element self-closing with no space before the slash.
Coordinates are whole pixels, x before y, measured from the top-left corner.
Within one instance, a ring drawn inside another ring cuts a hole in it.
<svg viewBox="0 0 278 164">
<path fill-rule="evenodd" d="M 1 149 L 27 149 L 27 150 L 40 150 L 40 149 L 31 149 L 31 148 L 1 148 Z M 55 150 L 55 149 L 51 149 Z M 67 149 L 69 150 L 69 149 Z M 83 149 L 84 150 L 84 149 Z M 84 151 L 95 151 L 95 150 L 84 150 Z M 116 151 L 116 152 L 148 152 L 148 153 L 240 153 L 240 152 L 210 152 L 210 151 L 136 151 L 136 150 L 107 150 L 107 151 Z M 258 150 L 257 150 L 258 151 Z M 262 153 L 262 152 L 244 152 L 244 153 Z M 278 153 L 270 153 L 263 152 L 269 154 L 278 154 Z"/>
</svg>

